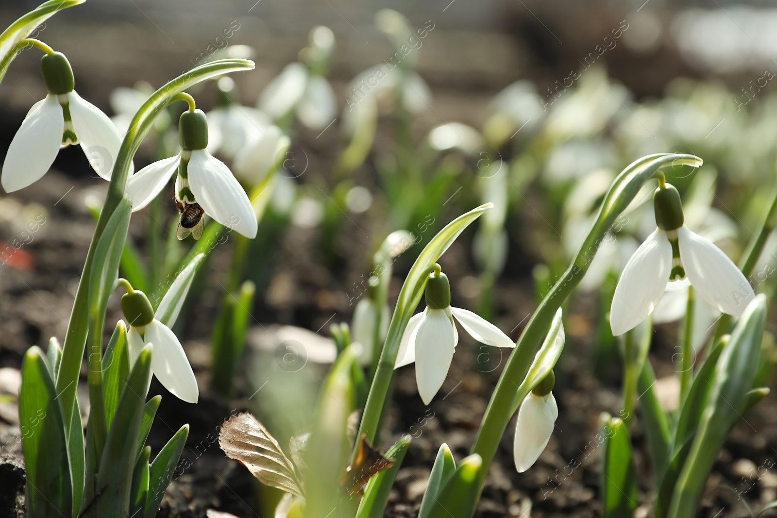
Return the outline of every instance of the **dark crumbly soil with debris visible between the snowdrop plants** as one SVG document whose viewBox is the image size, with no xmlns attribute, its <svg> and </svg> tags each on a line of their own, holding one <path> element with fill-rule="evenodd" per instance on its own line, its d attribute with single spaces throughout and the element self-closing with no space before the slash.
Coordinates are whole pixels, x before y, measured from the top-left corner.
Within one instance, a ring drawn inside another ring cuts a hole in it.
<svg viewBox="0 0 777 518">
<path fill-rule="evenodd" d="M 68 152 L 64 151 L 61 160 L 78 158 L 68 156 Z M 102 196 L 106 187 L 85 178 L 85 163 L 81 165 L 84 169 L 71 168 L 69 174 L 50 172 L 44 181 L 0 199 L 0 241 L 5 246 L 16 243 L 13 261 L 0 265 L 0 367 L 5 367 L 0 369 L 0 394 L 14 394 L 15 383 L 18 384 L 16 370 L 28 347 L 45 346 L 50 336 L 64 338 L 75 286 L 94 228 L 85 199 Z M 35 231 L 29 227 L 30 221 L 38 221 Z M 131 227 L 131 235 L 141 245 L 144 225 L 142 217 L 138 217 Z M 524 228 L 511 227 L 511 242 L 521 242 L 523 231 Z M 254 315 L 263 324 L 257 322 L 256 329 L 252 329 L 252 359 L 246 365 L 273 363 L 272 354 L 261 352 L 253 338 L 266 334 L 270 322 L 321 329 L 327 323 L 350 321 L 347 287 L 365 273 L 362 260 L 354 258 L 366 256 L 368 243 L 356 228 L 344 226 L 337 246 L 344 247 L 342 250 L 348 250 L 349 255 L 338 256 L 330 261 L 331 266 L 325 267 L 318 252 L 319 238 L 315 230 L 291 226 L 279 243 L 272 266 L 265 272 L 264 285 L 257 290 Z M 474 275 L 468 252 L 470 238 L 471 235 L 463 235 L 441 259 L 443 268 L 454 280 L 472 279 Z M 535 306 L 526 264 L 526 258 L 531 256 L 528 250 L 511 250 L 511 266 L 497 290 L 497 307 L 502 311 L 498 323 L 501 329 L 512 329 L 513 338 L 521 332 L 525 317 Z M 214 251 L 209 266 L 211 275 L 197 295 L 197 304 L 183 315 L 189 325 L 183 332 L 183 342 L 200 382 L 200 402 L 187 405 L 166 395 L 156 381 L 152 384 L 150 394 L 163 395 L 149 436 L 152 449 L 159 451 L 183 423 L 191 426 L 179 470 L 162 502 L 159 516 L 163 518 L 206 516 L 207 509 L 241 517 L 271 516 L 279 497 L 275 491 L 260 488 L 246 468 L 228 460 L 218 447 L 219 426 L 229 415 L 248 410 L 262 419 L 263 412 L 267 412 L 259 391 L 261 380 L 255 379 L 251 367 L 239 377 L 237 397 L 221 398 L 209 389 L 207 337 L 221 298 L 220 284 L 225 282 L 228 260 L 228 245 Z M 397 262 L 392 297 L 399 292 L 408 266 L 408 260 Z M 453 283 L 455 305 L 473 306 L 476 293 L 468 286 L 462 281 Z M 533 468 L 517 474 L 510 427 L 491 467 L 476 516 L 599 516 L 601 452 L 594 437 L 600 413 L 615 415 L 619 411 L 620 367 L 613 361 L 606 369 L 608 376 L 604 381 L 592 374 L 589 358 L 594 302 L 592 296 L 579 295 L 568 311 L 567 345 L 556 368 L 554 389 L 559 419 L 549 446 Z M 111 300 L 107 322 L 120 318 L 117 303 L 117 299 Z M 676 329 L 660 328 L 654 340 L 657 345 L 651 351 L 660 379 L 658 391 L 667 404 L 671 404 L 673 392 L 676 398 L 676 387 L 671 382 L 675 371 L 670 361 L 675 332 Z M 507 355 L 501 356 L 499 349 L 478 346 L 462 335 L 448 381 L 428 407 L 417 395 L 413 367 L 397 372 L 382 447 L 405 433 L 411 434 L 413 441 L 385 516 L 416 516 L 441 443 L 448 443 L 457 460 L 465 457 L 506 359 Z M 315 363 L 305 369 L 309 377 L 318 379 L 326 371 Z M 82 381 L 85 384 L 85 377 Z M 85 391 L 80 395 L 87 402 Z M 22 516 L 23 461 L 15 412 L 12 402 L 0 402 L 0 516 Z M 733 430 L 709 478 L 699 516 L 748 516 L 747 506 L 758 509 L 777 498 L 775 419 L 777 399 L 769 395 Z M 647 516 L 652 487 L 639 414 L 634 422 L 633 442 L 639 474 L 637 516 Z M 758 475 L 762 473 L 765 475 Z"/>
</svg>

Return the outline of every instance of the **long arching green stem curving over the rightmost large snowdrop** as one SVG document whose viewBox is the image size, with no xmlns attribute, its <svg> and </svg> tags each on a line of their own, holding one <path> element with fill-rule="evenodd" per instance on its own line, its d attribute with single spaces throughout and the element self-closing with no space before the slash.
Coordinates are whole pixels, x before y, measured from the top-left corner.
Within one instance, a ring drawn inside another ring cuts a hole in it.
<svg viewBox="0 0 777 518">
<path fill-rule="evenodd" d="M 504 430 L 507 429 L 507 423 L 513 415 L 516 387 L 519 387 L 526 377 L 542 339 L 549 329 L 553 315 L 566 297 L 569 297 L 577 283 L 580 283 L 608 229 L 628 207 L 646 181 L 654 177 L 660 179 L 663 176 L 658 169 L 678 164 L 698 167 L 701 162 L 700 158 L 692 155 L 648 155 L 632 162 L 612 183 L 601 203 L 594 226 L 580 245 L 576 258 L 539 304 L 534 315 L 531 315 L 513 352 L 510 353 L 507 365 L 497 382 L 497 388 L 491 395 L 471 450 L 472 454 L 479 454 L 483 458 L 483 469 L 479 471 L 479 484 L 476 488 L 478 494 L 483 489 L 488 468 L 497 453 L 497 447 Z"/>
</svg>

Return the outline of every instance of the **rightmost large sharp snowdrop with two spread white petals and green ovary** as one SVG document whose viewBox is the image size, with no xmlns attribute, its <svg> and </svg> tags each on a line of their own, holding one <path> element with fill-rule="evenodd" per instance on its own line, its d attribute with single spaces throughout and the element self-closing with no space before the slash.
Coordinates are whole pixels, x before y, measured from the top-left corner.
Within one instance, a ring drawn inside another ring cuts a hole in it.
<svg viewBox="0 0 777 518">
<path fill-rule="evenodd" d="M 680 194 L 661 182 L 653 194 L 657 229 L 639 246 L 618 280 L 610 311 L 613 335 L 622 335 L 653 312 L 671 281 L 688 278 L 699 298 L 738 317 L 755 296 L 721 249 L 685 226 Z"/>
</svg>

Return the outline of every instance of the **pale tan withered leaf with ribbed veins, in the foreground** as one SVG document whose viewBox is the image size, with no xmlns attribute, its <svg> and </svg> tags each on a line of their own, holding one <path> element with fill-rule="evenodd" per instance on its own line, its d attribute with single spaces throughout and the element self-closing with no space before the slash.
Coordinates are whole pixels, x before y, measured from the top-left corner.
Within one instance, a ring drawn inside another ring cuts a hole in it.
<svg viewBox="0 0 777 518">
<path fill-rule="evenodd" d="M 221 426 L 218 444 L 227 457 L 246 466 L 264 485 L 302 496 L 294 464 L 253 415 L 243 412 L 229 418 Z"/>
</svg>

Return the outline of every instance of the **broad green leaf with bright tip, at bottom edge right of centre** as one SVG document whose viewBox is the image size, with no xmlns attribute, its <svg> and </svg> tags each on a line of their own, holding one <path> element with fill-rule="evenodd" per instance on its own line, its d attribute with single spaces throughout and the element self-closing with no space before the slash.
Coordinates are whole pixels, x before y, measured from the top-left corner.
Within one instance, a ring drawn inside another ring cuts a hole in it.
<svg viewBox="0 0 777 518">
<path fill-rule="evenodd" d="M 434 500 L 428 518 L 471 518 L 475 514 L 479 471 L 483 461 L 478 454 L 462 459 L 458 468 Z"/>
</svg>

